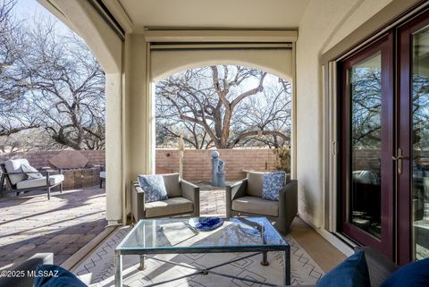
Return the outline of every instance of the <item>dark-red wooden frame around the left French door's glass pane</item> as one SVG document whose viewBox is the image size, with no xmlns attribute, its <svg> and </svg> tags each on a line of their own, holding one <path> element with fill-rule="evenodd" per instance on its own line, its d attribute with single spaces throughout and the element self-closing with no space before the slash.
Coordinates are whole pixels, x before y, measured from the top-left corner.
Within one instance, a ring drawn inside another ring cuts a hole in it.
<svg viewBox="0 0 429 287">
<path fill-rule="evenodd" d="M 392 190 L 393 186 L 393 164 L 391 156 L 393 155 L 393 143 L 394 143 L 394 132 L 393 132 L 393 112 L 394 112 L 394 98 L 393 98 L 393 34 L 388 33 L 383 37 L 377 39 L 370 45 L 361 49 L 357 54 L 351 55 L 349 58 L 339 63 L 339 70 L 341 71 L 341 80 L 339 82 L 339 97 L 338 101 L 341 105 L 341 111 L 339 112 L 341 128 L 339 129 L 340 139 L 340 155 L 339 156 L 339 184 L 341 188 L 340 194 L 340 205 L 341 213 L 339 222 L 339 230 L 344 232 L 346 235 L 352 237 L 354 241 L 360 244 L 373 246 L 375 249 L 379 249 L 388 257 L 393 258 L 393 242 L 394 242 L 394 230 L 393 230 L 393 200 L 394 195 Z M 381 210 L 381 224 L 382 224 L 382 239 L 376 239 L 368 233 L 357 228 L 354 224 L 350 224 L 348 221 L 348 192 L 350 186 L 350 95 L 348 85 L 348 72 L 349 68 L 366 57 L 374 55 L 377 52 L 381 52 L 382 55 L 382 210 Z M 387 128 L 386 128 L 387 127 Z"/>
</svg>

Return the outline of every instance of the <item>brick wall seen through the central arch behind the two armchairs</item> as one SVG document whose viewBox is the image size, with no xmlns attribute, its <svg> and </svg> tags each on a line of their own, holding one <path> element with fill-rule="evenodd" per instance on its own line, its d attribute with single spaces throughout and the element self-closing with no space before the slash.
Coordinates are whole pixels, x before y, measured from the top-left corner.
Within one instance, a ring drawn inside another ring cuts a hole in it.
<svg viewBox="0 0 429 287">
<path fill-rule="evenodd" d="M 213 150 L 187 149 L 183 156 L 183 178 L 189 181 L 210 181 Z M 273 172 L 278 163 L 275 149 L 219 149 L 225 162 L 227 181 L 243 179 L 245 170 Z M 178 173 L 179 151 L 156 149 L 156 173 Z"/>
</svg>

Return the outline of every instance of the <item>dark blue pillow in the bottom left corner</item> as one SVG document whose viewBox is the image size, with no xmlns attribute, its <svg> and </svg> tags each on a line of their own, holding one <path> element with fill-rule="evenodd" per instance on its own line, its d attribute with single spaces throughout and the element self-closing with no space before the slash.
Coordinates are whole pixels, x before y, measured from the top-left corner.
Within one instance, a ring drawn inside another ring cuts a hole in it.
<svg viewBox="0 0 429 287">
<path fill-rule="evenodd" d="M 55 265 L 41 265 L 36 270 L 34 287 L 88 287 L 75 274 Z"/>
</svg>

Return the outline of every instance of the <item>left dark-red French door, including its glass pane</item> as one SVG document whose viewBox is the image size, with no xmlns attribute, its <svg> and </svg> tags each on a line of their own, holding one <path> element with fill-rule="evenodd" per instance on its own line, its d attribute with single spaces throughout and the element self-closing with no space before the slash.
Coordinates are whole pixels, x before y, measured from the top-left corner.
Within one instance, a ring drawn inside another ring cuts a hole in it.
<svg viewBox="0 0 429 287">
<path fill-rule="evenodd" d="M 341 231 L 391 257 L 391 36 L 341 63 Z"/>
</svg>

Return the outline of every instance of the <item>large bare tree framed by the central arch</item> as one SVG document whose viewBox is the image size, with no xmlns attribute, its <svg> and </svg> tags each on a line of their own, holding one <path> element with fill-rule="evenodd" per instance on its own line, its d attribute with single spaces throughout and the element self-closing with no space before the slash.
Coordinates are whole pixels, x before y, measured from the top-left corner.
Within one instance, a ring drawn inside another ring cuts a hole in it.
<svg viewBox="0 0 429 287">
<path fill-rule="evenodd" d="M 256 69 L 219 65 L 158 82 L 157 135 L 175 138 L 181 129 L 193 148 L 234 148 L 263 138 L 289 142 L 290 85 L 272 75 L 266 85 L 266 78 Z"/>
</svg>

